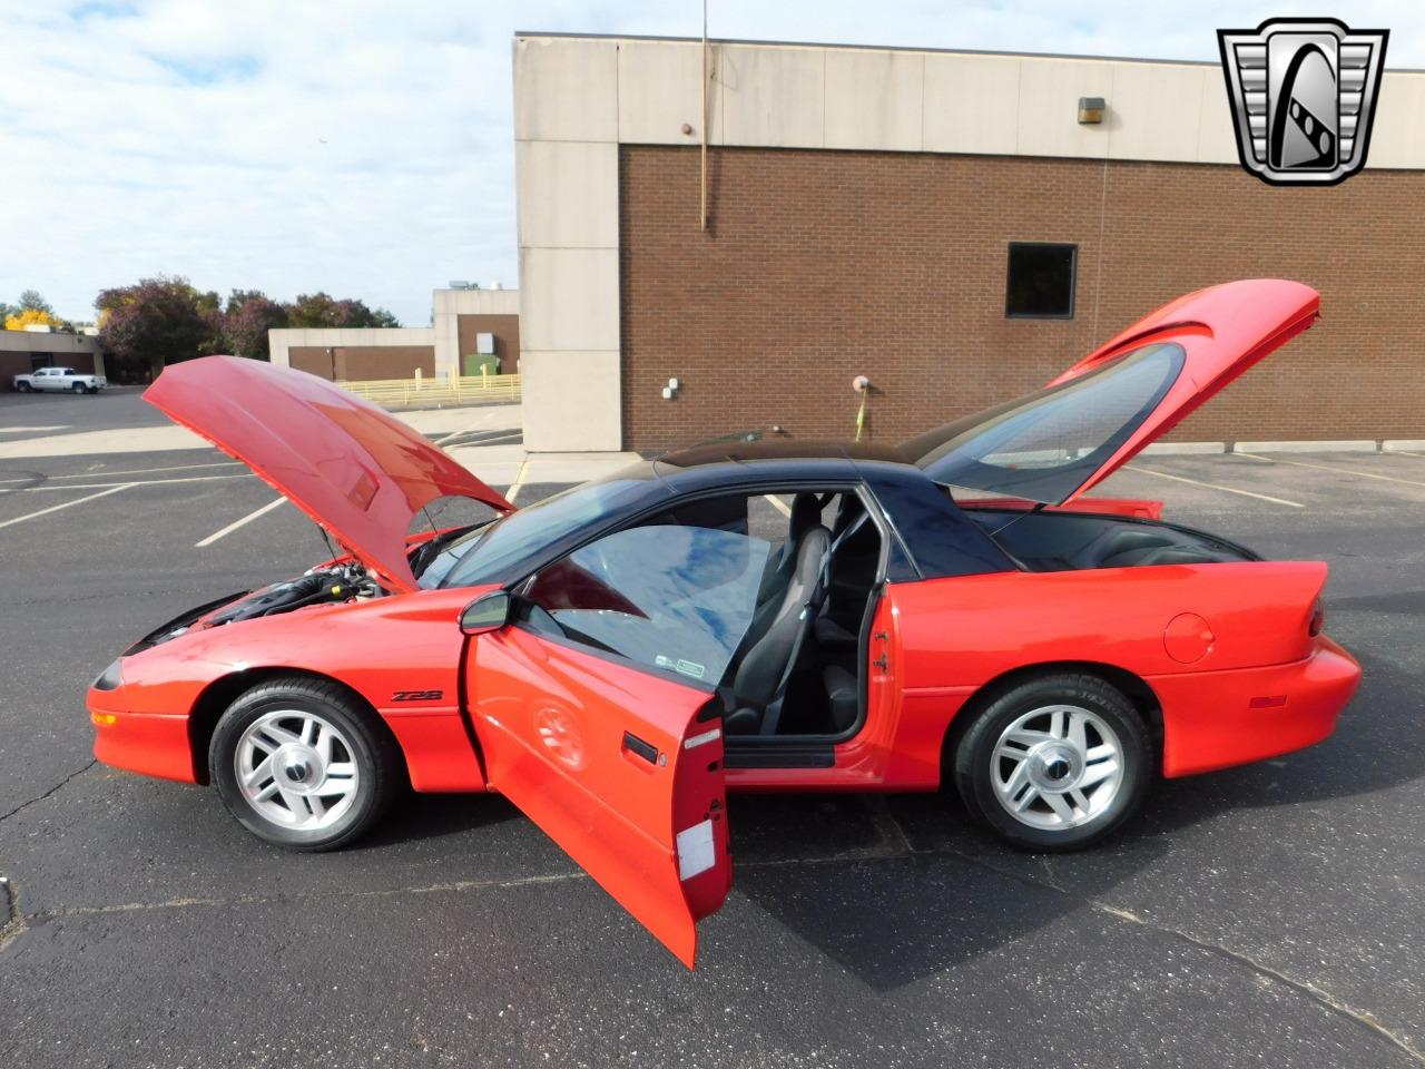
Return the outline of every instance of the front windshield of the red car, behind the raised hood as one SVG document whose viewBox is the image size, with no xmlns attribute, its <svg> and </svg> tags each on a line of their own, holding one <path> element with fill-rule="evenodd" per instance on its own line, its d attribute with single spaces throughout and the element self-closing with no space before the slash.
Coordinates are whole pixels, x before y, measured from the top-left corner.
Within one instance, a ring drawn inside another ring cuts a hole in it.
<svg viewBox="0 0 1425 1069">
<path fill-rule="evenodd" d="M 574 486 L 447 543 L 416 580 L 422 589 L 503 583 L 520 563 L 574 532 L 596 526 L 647 492 L 644 479 L 607 479 Z"/>
</svg>

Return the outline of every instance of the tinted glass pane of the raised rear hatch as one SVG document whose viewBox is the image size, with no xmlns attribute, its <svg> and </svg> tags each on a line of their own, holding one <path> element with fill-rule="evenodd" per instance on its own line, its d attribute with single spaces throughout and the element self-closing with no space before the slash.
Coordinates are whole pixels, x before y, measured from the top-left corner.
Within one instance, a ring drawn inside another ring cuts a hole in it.
<svg viewBox="0 0 1425 1069">
<path fill-rule="evenodd" d="M 905 449 L 938 483 L 1062 505 L 1153 413 L 1184 359 L 1180 345 L 1146 345 Z"/>
</svg>

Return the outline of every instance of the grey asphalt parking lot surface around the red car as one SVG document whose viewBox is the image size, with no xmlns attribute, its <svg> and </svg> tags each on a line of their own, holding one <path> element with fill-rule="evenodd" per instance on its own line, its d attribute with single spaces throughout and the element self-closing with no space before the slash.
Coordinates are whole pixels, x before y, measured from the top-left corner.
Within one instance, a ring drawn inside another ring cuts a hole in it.
<svg viewBox="0 0 1425 1069">
<path fill-rule="evenodd" d="M 200 546 L 274 499 L 215 450 L 0 469 L 3 1065 L 1425 1063 L 1425 456 L 1146 456 L 1102 489 L 1330 562 L 1365 666 L 1331 740 L 1160 783 L 1052 859 L 949 797 L 734 798 L 697 972 L 497 797 L 292 855 L 93 764 L 120 649 L 326 549 L 286 505 Z"/>
</svg>

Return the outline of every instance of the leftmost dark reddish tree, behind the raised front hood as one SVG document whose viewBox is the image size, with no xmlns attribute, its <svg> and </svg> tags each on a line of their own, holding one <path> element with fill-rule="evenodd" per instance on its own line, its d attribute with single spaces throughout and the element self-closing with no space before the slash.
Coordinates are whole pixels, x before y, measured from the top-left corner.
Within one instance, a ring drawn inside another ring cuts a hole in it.
<svg viewBox="0 0 1425 1069">
<path fill-rule="evenodd" d="M 98 308 L 100 344 L 113 358 L 115 378 L 154 379 L 168 363 L 205 356 L 221 346 L 222 309 L 215 292 L 201 292 L 185 278 L 144 278 L 105 289 Z"/>
</svg>

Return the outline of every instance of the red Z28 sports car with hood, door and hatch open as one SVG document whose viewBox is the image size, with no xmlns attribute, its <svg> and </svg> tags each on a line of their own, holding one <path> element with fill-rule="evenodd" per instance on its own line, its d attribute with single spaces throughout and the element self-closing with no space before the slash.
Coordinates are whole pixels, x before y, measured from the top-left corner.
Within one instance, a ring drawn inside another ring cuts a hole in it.
<svg viewBox="0 0 1425 1069">
<path fill-rule="evenodd" d="M 405 783 L 499 791 L 690 965 L 732 882 L 727 790 L 953 783 L 1009 842 L 1082 847 L 1154 775 L 1310 745 L 1355 691 L 1325 564 L 1083 497 L 1318 304 L 1214 286 L 902 446 L 707 445 L 520 510 L 322 379 L 175 365 L 145 398 L 345 556 L 130 647 L 94 751 L 298 849 Z M 409 534 L 442 497 L 499 515 Z"/>
</svg>

